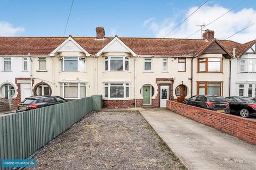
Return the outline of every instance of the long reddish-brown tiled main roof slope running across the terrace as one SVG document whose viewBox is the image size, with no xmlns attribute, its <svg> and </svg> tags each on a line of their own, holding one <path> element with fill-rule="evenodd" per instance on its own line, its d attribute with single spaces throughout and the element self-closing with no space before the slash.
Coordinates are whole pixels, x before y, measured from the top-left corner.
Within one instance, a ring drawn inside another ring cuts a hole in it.
<svg viewBox="0 0 256 170">
<path fill-rule="evenodd" d="M 49 55 L 68 37 L 0 37 L 0 55 Z M 91 55 L 97 54 L 114 37 L 97 40 L 95 37 L 73 37 Z M 119 37 L 118 37 L 119 38 Z M 126 38 L 120 37 L 125 45 L 137 55 L 194 56 L 203 39 L 179 38 Z M 219 43 L 232 54 L 233 47 L 240 45 L 234 41 L 219 40 Z"/>
</svg>

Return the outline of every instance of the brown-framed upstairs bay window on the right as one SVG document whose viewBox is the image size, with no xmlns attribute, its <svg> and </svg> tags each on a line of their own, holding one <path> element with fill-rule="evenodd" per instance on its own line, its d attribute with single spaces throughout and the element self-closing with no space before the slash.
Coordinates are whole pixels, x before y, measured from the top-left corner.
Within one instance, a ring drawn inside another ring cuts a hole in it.
<svg viewBox="0 0 256 170">
<path fill-rule="evenodd" d="M 198 58 L 198 72 L 221 72 L 222 58 Z"/>
</svg>

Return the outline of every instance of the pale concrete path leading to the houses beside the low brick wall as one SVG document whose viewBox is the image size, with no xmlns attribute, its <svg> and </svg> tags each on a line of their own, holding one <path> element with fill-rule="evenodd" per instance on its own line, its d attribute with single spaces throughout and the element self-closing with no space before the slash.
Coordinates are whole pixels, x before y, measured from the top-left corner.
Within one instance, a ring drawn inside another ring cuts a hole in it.
<svg viewBox="0 0 256 170">
<path fill-rule="evenodd" d="M 140 111 L 189 169 L 256 169 L 256 146 L 166 109 Z"/>
</svg>

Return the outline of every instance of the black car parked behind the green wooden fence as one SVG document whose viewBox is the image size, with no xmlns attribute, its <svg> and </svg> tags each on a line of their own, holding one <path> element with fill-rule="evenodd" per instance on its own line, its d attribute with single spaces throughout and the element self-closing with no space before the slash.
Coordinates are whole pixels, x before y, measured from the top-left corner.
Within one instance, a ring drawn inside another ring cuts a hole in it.
<svg viewBox="0 0 256 170">
<path fill-rule="evenodd" d="M 65 103 L 67 101 L 68 100 L 59 96 L 31 96 L 21 101 L 16 112 L 29 111 L 35 108 Z"/>
</svg>

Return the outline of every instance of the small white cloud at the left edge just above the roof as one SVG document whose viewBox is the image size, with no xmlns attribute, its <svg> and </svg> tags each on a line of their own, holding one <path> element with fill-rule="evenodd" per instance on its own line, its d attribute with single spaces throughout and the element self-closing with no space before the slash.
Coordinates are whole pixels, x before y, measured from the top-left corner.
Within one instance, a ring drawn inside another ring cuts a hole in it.
<svg viewBox="0 0 256 170">
<path fill-rule="evenodd" d="M 23 27 L 14 28 L 9 22 L 0 21 L 0 36 L 14 36 L 18 32 L 25 31 Z"/>
</svg>

